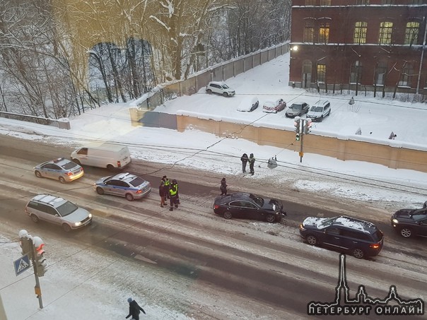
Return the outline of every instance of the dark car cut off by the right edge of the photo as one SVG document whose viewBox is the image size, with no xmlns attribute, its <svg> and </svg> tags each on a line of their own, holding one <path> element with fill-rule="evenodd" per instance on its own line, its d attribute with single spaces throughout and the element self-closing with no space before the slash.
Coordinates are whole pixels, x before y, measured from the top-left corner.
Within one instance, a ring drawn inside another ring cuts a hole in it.
<svg viewBox="0 0 427 320">
<path fill-rule="evenodd" d="M 402 237 L 427 237 L 427 208 L 400 209 L 393 213 L 390 222 Z"/>
</svg>

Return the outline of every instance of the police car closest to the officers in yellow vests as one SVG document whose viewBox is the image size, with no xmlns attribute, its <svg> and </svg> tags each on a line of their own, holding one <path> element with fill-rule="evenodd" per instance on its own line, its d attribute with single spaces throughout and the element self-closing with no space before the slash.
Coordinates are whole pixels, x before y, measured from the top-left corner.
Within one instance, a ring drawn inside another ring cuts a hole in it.
<svg viewBox="0 0 427 320">
<path fill-rule="evenodd" d="M 128 172 L 103 177 L 94 184 L 98 194 L 124 196 L 128 201 L 140 199 L 151 192 L 150 182 Z"/>
</svg>

